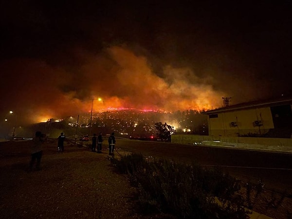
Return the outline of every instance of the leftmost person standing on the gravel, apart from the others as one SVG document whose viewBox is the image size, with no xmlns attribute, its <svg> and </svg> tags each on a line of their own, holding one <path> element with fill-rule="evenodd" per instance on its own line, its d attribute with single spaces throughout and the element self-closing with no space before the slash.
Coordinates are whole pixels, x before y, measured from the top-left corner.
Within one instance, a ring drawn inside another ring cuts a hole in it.
<svg viewBox="0 0 292 219">
<path fill-rule="evenodd" d="M 33 145 L 32 145 L 32 158 L 29 163 L 29 171 L 33 170 L 33 166 L 37 160 L 36 169 L 40 170 L 40 159 L 42 157 L 42 145 L 45 142 L 45 135 L 42 134 L 40 131 L 36 132 L 35 137 L 33 138 Z"/>
</svg>

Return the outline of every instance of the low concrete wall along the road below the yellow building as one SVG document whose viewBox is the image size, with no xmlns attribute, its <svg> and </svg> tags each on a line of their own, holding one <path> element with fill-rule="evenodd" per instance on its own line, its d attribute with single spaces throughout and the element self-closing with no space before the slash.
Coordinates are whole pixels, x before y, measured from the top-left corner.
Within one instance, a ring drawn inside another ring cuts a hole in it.
<svg viewBox="0 0 292 219">
<path fill-rule="evenodd" d="M 260 145 L 260 146 L 292 146 L 292 139 L 287 138 L 253 138 L 253 137 L 214 137 L 202 135 L 171 135 L 172 143 L 204 144 L 204 145 Z"/>
</svg>

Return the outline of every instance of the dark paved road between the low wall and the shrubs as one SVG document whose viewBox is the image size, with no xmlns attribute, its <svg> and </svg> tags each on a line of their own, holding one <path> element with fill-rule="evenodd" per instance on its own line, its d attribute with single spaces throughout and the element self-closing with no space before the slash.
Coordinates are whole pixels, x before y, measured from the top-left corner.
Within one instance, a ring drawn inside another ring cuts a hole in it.
<svg viewBox="0 0 292 219">
<path fill-rule="evenodd" d="M 185 163 L 219 166 L 241 180 L 262 179 L 267 188 L 292 191 L 292 154 L 122 139 L 117 140 L 116 147 L 121 148 L 121 154 L 127 150 Z"/>
</svg>

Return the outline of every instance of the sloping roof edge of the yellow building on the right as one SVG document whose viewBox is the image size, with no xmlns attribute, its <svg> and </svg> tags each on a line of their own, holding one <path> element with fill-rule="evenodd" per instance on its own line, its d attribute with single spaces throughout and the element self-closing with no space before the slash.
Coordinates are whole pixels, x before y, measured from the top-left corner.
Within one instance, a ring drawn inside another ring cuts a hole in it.
<svg viewBox="0 0 292 219">
<path fill-rule="evenodd" d="M 286 104 L 292 104 L 292 97 L 281 97 L 281 98 L 269 99 L 269 100 L 256 100 L 252 102 L 240 103 L 240 104 L 231 105 L 228 107 L 218 108 L 215 110 L 208 110 L 201 113 L 209 115 L 209 114 L 219 113 L 219 112 L 247 110 L 247 109 L 263 108 L 263 107 L 274 107 L 274 106 L 281 106 L 281 105 L 286 105 Z"/>
</svg>

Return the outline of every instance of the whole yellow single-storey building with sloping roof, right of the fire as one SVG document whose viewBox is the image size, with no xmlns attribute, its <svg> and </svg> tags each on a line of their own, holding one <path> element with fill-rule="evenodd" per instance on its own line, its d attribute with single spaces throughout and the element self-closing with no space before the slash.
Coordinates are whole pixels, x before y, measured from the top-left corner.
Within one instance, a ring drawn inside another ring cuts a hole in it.
<svg viewBox="0 0 292 219">
<path fill-rule="evenodd" d="M 292 97 L 254 101 L 203 112 L 209 136 L 291 138 Z"/>
</svg>

